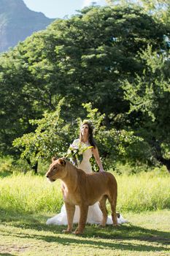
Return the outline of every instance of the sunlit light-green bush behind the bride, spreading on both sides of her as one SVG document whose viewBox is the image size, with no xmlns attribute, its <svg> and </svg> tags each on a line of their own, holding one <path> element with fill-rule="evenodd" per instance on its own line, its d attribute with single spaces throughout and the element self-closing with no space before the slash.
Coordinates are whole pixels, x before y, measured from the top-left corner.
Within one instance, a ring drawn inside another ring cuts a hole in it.
<svg viewBox="0 0 170 256">
<path fill-rule="evenodd" d="M 129 162 L 132 165 L 136 161 L 146 162 L 150 156 L 146 156 L 147 144 L 142 138 L 135 136 L 133 131 L 116 130 L 113 127 L 107 129 L 104 125 L 104 114 L 101 115 L 97 108 L 92 108 L 91 103 L 83 106 L 87 111 L 86 118 L 93 121 L 95 126 L 96 142 L 106 170 L 115 167 L 116 161 Z M 34 173 L 37 173 L 39 160 L 50 162 L 52 157 L 66 157 L 69 144 L 78 137 L 81 118 L 77 118 L 74 125 L 68 124 L 62 118 L 62 107 L 63 99 L 55 111 L 45 112 L 41 119 L 30 121 L 31 124 L 36 124 L 35 132 L 16 138 L 13 142 L 20 151 L 21 158 L 26 159 Z M 98 169 L 95 163 L 92 159 L 93 170 Z"/>
</svg>

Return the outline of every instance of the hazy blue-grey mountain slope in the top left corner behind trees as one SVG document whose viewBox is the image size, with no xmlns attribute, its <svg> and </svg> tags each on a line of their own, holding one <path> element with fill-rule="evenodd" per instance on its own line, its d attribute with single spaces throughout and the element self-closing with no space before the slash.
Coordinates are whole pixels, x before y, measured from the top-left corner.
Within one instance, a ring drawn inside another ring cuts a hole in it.
<svg viewBox="0 0 170 256">
<path fill-rule="evenodd" d="M 54 19 L 26 7 L 23 0 L 0 0 L 0 52 L 45 29 Z"/>
</svg>

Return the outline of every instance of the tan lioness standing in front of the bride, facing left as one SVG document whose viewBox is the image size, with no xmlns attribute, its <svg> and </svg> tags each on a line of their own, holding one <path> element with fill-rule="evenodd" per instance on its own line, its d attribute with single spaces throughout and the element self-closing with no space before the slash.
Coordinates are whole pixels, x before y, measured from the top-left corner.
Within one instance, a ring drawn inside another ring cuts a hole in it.
<svg viewBox="0 0 170 256">
<path fill-rule="evenodd" d="M 75 206 L 80 207 L 80 219 L 74 234 L 80 234 L 85 229 L 88 216 L 88 206 L 99 202 L 103 219 L 102 226 L 107 223 L 106 200 L 108 198 L 112 210 L 113 225 L 117 225 L 117 181 L 111 173 L 85 173 L 72 165 L 68 160 L 52 159 L 46 177 L 51 181 L 60 178 L 62 182 L 63 200 L 66 205 L 68 227 L 64 233 L 72 232 Z"/>
</svg>

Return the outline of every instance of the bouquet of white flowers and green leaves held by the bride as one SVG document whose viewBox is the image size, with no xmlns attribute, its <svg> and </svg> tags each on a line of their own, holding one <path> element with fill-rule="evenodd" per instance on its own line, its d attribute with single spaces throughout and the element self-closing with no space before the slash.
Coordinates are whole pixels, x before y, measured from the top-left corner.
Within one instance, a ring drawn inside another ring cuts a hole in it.
<svg viewBox="0 0 170 256">
<path fill-rule="evenodd" d="M 82 153 L 89 148 L 93 148 L 93 146 L 85 147 L 81 143 L 72 144 L 69 146 L 66 158 L 69 158 L 70 162 L 77 166 L 82 162 Z"/>
</svg>

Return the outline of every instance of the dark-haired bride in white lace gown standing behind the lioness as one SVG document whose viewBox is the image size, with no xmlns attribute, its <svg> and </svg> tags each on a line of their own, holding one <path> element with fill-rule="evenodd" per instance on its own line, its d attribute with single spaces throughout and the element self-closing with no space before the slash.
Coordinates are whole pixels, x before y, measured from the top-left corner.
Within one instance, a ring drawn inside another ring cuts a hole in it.
<svg viewBox="0 0 170 256">
<path fill-rule="evenodd" d="M 96 163 L 99 167 L 99 171 L 104 172 L 104 168 L 98 154 L 98 148 L 93 139 L 93 125 L 90 121 L 85 120 L 82 123 L 82 127 L 80 129 L 80 138 L 77 140 L 74 140 L 71 147 L 75 149 L 77 148 L 82 149 L 82 161 L 76 162 L 78 168 L 84 170 L 86 173 L 91 173 L 92 168 L 90 165 L 90 157 L 92 157 L 92 154 L 93 154 L 94 158 L 96 159 Z M 79 222 L 79 217 L 80 217 L 80 209 L 78 206 L 76 206 L 73 222 L 74 223 Z M 93 206 L 89 206 L 87 222 L 90 224 L 99 224 L 101 223 L 101 219 L 102 219 L 102 213 L 101 213 L 101 209 L 98 206 L 98 203 L 95 203 Z M 127 221 L 123 219 L 121 214 L 118 214 L 117 222 L 118 224 L 122 224 Z M 55 215 L 55 217 L 52 217 L 50 219 L 47 219 L 46 224 L 47 225 L 51 225 L 51 224 L 67 225 L 66 207 L 64 204 L 61 208 L 60 214 L 57 214 Z M 107 225 L 112 225 L 111 216 L 107 217 Z"/>
</svg>

